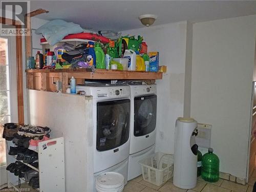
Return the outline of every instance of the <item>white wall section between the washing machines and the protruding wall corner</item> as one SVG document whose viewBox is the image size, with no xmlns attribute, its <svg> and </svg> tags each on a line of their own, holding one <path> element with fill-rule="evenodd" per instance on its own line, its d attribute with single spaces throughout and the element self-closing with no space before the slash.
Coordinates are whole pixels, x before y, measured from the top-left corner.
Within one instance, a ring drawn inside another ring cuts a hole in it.
<svg viewBox="0 0 256 192">
<path fill-rule="evenodd" d="M 142 35 L 148 51 L 159 51 L 159 65 L 167 66 L 162 80 L 157 80 L 156 151 L 174 153 L 177 117 L 183 116 L 187 22 L 123 31 L 123 35 Z M 159 131 L 164 133 L 160 139 Z"/>
</svg>

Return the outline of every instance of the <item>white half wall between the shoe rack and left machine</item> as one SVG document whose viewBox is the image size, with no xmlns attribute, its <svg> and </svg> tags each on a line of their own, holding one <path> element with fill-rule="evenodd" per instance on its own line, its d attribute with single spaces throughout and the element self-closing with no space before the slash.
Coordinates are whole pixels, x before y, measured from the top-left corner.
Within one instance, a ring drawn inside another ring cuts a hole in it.
<svg viewBox="0 0 256 192">
<path fill-rule="evenodd" d="M 64 138 L 66 191 L 93 191 L 92 97 L 36 90 L 27 93 L 29 123 L 50 127 L 51 138 Z"/>
</svg>

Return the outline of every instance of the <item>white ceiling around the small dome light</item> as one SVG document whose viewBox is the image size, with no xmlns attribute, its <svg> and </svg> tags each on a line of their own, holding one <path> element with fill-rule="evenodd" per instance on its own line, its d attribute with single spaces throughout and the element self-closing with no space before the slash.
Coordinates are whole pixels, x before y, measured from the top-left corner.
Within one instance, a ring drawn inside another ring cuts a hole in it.
<svg viewBox="0 0 256 192">
<path fill-rule="evenodd" d="M 39 18 L 63 19 L 94 31 L 123 31 L 143 27 L 141 14 L 156 14 L 154 25 L 252 15 L 256 1 L 31 1 L 31 11 L 39 8 L 50 11 Z"/>
</svg>

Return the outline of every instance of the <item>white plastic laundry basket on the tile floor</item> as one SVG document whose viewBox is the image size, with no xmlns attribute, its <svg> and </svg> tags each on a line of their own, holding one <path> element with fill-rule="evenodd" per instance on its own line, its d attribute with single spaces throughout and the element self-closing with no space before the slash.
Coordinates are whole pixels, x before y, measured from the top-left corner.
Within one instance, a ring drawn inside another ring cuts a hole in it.
<svg viewBox="0 0 256 192">
<path fill-rule="evenodd" d="M 160 186 L 173 177 L 174 155 L 157 152 L 139 161 L 143 179 Z"/>
</svg>

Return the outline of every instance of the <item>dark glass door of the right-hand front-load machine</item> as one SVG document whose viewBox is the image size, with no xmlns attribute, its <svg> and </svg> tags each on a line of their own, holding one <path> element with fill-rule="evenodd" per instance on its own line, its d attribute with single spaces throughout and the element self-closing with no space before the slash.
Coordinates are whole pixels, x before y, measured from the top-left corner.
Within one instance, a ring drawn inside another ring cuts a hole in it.
<svg viewBox="0 0 256 192">
<path fill-rule="evenodd" d="M 156 128 L 157 96 L 134 98 L 134 136 L 147 135 Z"/>
</svg>

